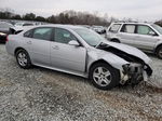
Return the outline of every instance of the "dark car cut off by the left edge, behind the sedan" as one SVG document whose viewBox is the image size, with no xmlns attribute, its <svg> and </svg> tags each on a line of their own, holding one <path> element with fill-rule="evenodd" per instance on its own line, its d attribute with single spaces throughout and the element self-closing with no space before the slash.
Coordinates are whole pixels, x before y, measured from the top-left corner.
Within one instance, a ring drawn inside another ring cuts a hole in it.
<svg viewBox="0 0 162 121">
<path fill-rule="evenodd" d="M 10 28 L 13 27 L 12 24 L 6 22 L 0 22 L 0 43 L 4 43 L 6 36 L 10 33 Z"/>
</svg>

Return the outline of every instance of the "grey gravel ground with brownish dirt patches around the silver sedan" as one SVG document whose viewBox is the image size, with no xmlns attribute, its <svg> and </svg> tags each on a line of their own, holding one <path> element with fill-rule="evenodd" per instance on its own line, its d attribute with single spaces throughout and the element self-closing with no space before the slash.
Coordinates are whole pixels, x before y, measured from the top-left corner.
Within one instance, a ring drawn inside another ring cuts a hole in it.
<svg viewBox="0 0 162 121">
<path fill-rule="evenodd" d="M 162 60 L 150 56 L 151 83 L 100 91 L 84 78 L 21 69 L 0 44 L 0 121 L 162 121 Z"/>
</svg>

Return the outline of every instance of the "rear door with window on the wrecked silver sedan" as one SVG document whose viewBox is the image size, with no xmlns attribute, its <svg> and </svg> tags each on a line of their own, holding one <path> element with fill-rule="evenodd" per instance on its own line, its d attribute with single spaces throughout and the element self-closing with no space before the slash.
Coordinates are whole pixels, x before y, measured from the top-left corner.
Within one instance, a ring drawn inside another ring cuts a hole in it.
<svg viewBox="0 0 162 121">
<path fill-rule="evenodd" d="M 32 30 L 32 35 L 25 33 L 25 36 L 30 36 L 25 38 L 25 44 L 33 64 L 51 66 L 50 43 L 52 30 L 51 27 L 38 27 Z"/>
</svg>

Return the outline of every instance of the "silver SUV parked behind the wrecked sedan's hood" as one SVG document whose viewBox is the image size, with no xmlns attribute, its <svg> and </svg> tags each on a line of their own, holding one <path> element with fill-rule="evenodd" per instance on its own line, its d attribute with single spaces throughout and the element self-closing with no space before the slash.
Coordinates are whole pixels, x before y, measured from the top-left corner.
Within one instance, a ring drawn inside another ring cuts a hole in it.
<svg viewBox="0 0 162 121">
<path fill-rule="evenodd" d="M 148 23 L 112 23 L 106 37 L 113 42 L 133 45 L 162 58 L 162 27 Z"/>
</svg>

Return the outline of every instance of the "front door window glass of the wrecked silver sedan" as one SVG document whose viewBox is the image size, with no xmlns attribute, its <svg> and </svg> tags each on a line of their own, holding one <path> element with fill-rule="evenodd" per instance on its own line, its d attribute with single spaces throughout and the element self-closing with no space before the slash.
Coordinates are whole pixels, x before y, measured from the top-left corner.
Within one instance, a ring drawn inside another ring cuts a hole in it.
<svg viewBox="0 0 162 121">
<path fill-rule="evenodd" d="M 77 38 L 66 29 L 55 28 L 54 41 L 59 43 L 68 43 Z"/>
</svg>

